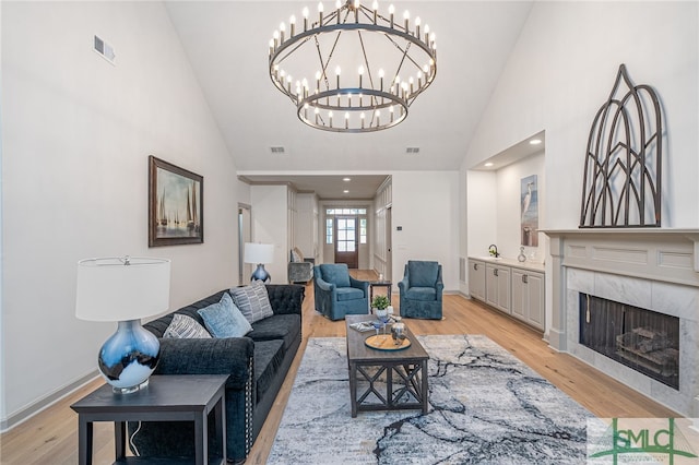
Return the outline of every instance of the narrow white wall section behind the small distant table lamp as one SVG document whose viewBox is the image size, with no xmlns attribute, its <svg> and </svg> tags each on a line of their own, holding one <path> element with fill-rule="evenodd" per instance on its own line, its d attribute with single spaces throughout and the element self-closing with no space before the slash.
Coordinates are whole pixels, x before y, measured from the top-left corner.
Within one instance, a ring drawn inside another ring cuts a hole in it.
<svg viewBox="0 0 699 465">
<path fill-rule="evenodd" d="M 288 187 L 251 186 L 252 241 L 274 245 L 274 262 L 264 265 L 273 284 L 286 284 L 286 265 L 291 245 L 288 237 Z M 253 267 L 254 270 L 254 267 Z"/>
</svg>

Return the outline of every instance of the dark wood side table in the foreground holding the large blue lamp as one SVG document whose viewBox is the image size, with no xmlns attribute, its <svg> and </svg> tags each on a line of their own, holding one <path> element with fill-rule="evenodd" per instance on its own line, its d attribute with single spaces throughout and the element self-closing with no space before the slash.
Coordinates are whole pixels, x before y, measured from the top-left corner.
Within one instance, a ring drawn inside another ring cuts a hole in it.
<svg viewBox="0 0 699 465">
<path fill-rule="evenodd" d="M 221 461 L 226 463 L 226 405 L 224 385 L 227 374 L 153 375 L 149 385 L 132 394 L 115 394 L 109 384 L 93 391 L 71 408 L 78 413 L 79 463 L 92 464 L 93 422 L 114 421 L 116 463 L 147 463 L 145 457 L 127 457 L 127 421 L 193 421 L 194 463 L 209 464 L 209 421 L 215 418 L 221 439 Z M 217 457 L 218 458 L 218 457 Z M 165 463 L 159 462 L 156 463 Z M 167 462 L 174 463 L 174 462 Z M 191 463 L 191 462 L 190 462 Z"/>
</svg>

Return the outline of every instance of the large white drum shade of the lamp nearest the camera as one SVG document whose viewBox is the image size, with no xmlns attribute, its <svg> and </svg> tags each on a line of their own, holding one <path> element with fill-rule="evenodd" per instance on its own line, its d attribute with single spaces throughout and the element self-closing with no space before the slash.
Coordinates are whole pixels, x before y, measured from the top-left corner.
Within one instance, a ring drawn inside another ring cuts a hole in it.
<svg viewBox="0 0 699 465">
<path fill-rule="evenodd" d="M 152 317 L 169 308 L 169 260 L 104 258 L 78 262 L 75 317 L 81 320 Z"/>
</svg>

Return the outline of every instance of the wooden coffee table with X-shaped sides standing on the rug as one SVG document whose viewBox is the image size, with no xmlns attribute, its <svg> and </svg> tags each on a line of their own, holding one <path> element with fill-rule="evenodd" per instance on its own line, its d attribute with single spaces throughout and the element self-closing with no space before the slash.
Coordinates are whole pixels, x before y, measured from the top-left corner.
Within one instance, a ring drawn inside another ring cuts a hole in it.
<svg viewBox="0 0 699 465">
<path fill-rule="evenodd" d="M 360 321 L 372 321 L 376 317 L 348 314 L 347 362 L 350 366 L 350 395 L 352 417 L 363 410 L 428 409 L 427 360 L 429 356 L 417 337 L 405 327 L 411 345 L 400 350 L 382 350 L 368 347 L 367 337 L 374 331 L 360 333 L 350 327 Z M 387 329 L 390 337 L 390 327 Z M 362 392 L 357 392 L 362 384 Z"/>
</svg>

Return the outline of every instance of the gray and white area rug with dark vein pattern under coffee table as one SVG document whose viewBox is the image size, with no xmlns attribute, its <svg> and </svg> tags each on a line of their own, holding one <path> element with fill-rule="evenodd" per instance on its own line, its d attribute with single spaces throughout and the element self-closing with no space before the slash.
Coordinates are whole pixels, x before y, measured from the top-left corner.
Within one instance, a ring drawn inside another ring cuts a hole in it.
<svg viewBox="0 0 699 465">
<path fill-rule="evenodd" d="M 582 464 L 587 409 L 481 335 L 419 336 L 429 413 L 352 418 L 344 337 L 310 338 L 270 464 Z"/>
</svg>

